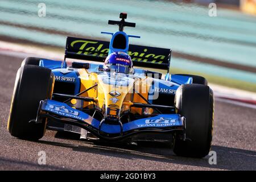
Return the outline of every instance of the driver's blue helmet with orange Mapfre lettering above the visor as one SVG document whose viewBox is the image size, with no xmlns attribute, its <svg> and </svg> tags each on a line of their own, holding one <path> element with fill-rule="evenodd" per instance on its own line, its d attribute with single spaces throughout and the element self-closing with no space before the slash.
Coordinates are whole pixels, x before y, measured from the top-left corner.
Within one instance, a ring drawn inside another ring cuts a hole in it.
<svg viewBox="0 0 256 182">
<path fill-rule="evenodd" d="M 118 73 L 131 73 L 133 72 L 133 61 L 125 52 L 113 52 L 106 58 L 104 69 Z"/>
</svg>

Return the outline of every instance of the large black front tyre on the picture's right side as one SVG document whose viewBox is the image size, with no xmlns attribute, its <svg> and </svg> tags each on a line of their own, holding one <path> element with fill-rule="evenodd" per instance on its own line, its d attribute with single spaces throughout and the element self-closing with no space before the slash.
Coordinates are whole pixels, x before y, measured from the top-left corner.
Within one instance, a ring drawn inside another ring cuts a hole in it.
<svg viewBox="0 0 256 182">
<path fill-rule="evenodd" d="M 186 121 L 186 140 L 175 138 L 175 154 L 193 158 L 208 155 L 213 134 L 212 89 L 199 84 L 181 85 L 176 91 L 175 106 Z"/>
</svg>

